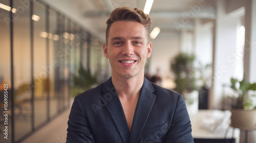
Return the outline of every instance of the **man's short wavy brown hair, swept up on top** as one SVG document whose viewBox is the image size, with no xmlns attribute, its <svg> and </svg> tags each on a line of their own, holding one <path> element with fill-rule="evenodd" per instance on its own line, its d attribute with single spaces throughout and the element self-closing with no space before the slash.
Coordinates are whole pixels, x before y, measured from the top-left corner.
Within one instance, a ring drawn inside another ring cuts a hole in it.
<svg viewBox="0 0 256 143">
<path fill-rule="evenodd" d="M 116 8 L 111 14 L 110 18 L 106 20 L 106 43 L 108 44 L 108 37 L 109 37 L 109 31 L 112 23 L 115 21 L 137 21 L 144 25 L 147 32 L 147 39 L 149 39 L 150 35 L 150 28 L 151 28 L 151 18 L 148 16 L 148 14 L 145 14 L 142 10 L 139 8 L 128 8 L 128 7 L 122 7 L 122 8 Z"/>
</svg>

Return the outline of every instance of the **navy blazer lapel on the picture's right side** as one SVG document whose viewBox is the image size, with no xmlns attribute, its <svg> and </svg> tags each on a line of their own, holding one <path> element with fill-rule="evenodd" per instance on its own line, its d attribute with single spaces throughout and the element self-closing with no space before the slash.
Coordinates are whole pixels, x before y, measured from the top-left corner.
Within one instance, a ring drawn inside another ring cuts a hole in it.
<svg viewBox="0 0 256 143">
<path fill-rule="evenodd" d="M 144 83 L 140 92 L 140 97 L 134 114 L 132 129 L 130 133 L 131 143 L 137 143 L 151 112 L 156 95 L 153 94 L 154 88 L 152 83 L 144 78 Z"/>
</svg>

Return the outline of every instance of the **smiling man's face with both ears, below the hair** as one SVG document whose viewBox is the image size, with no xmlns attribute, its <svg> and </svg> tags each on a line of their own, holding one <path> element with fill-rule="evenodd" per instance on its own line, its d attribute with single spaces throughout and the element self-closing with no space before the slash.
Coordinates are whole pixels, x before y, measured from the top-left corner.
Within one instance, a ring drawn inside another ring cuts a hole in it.
<svg viewBox="0 0 256 143">
<path fill-rule="evenodd" d="M 151 56 L 152 44 L 147 43 L 146 28 L 136 21 L 115 21 L 109 31 L 108 45 L 103 50 L 109 59 L 112 75 L 131 78 L 141 73 L 147 58 Z"/>
</svg>

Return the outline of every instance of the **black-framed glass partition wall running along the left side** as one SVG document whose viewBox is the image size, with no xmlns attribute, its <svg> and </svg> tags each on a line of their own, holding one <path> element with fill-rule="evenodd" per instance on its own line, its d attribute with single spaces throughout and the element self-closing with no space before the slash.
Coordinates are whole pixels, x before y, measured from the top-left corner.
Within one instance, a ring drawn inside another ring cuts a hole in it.
<svg viewBox="0 0 256 143">
<path fill-rule="evenodd" d="M 13 0 L 0 5 L 1 95 L 8 84 L 8 139 L 1 99 L 0 142 L 20 142 L 70 108 L 80 66 L 97 73 L 100 83 L 109 78 L 109 64 L 100 40 L 48 5 Z"/>
</svg>

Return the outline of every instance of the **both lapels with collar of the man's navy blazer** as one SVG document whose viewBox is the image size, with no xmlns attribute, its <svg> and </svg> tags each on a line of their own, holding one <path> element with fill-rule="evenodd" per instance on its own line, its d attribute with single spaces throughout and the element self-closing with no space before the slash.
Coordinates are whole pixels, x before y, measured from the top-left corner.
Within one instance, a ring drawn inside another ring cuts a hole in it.
<svg viewBox="0 0 256 143">
<path fill-rule="evenodd" d="M 154 88 L 152 83 L 144 78 L 140 97 L 134 113 L 131 132 L 129 132 L 122 104 L 117 96 L 111 77 L 104 83 L 102 92 L 104 94 L 101 96 L 109 95 L 108 101 L 105 101 L 106 108 L 109 110 L 123 142 L 138 142 L 156 99 L 156 95 L 153 94 Z M 111 98 L 110 95 L 112 95 Z M 104 99 L 104 97 L 101 99 Z"/>
</svg>

